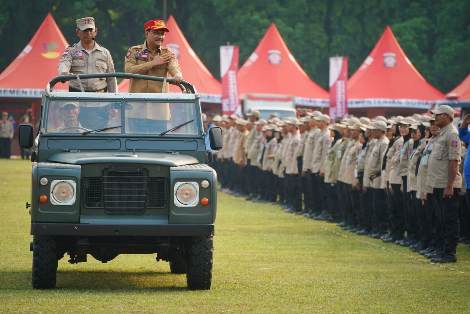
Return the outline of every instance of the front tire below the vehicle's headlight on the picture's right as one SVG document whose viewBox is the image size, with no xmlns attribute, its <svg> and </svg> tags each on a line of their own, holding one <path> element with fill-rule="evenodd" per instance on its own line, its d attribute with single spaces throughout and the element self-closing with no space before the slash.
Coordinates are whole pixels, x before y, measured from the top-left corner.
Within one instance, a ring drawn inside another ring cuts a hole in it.
<svg viewBox="0 0 470 314">
<path fill-rule="evenodd" d="M 193 236 L 188 250 L 186 281 L 190 290 L 209 290 L 212 281 L 213 237 Z"/>
</svg>

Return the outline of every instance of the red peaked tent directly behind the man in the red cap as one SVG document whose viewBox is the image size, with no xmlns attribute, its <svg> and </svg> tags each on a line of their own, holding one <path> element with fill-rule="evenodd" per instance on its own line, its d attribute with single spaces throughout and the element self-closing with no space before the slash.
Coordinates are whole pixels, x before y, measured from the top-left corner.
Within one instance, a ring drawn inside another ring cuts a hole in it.
<svg viewBox="0 0 470 314">
<path fill-rule="evenodd" d="M 193 84 L 201 94 L 202 102 L 220 103 L 222 86 L 207 70 L 204 63 L 199 60 L 194 50 L 176 24 L 171 15 L 165 25 L 170 31 L 165 36 L 164 46 L 170 47 L 178 59 L 183 79 Z M 118 85 L 119 92 L 126 93 L 129 90 L 129 80 L 123 79 Z M 181 93 L 180 88 L 170 85 L 170 93 Z"/>
</svg>

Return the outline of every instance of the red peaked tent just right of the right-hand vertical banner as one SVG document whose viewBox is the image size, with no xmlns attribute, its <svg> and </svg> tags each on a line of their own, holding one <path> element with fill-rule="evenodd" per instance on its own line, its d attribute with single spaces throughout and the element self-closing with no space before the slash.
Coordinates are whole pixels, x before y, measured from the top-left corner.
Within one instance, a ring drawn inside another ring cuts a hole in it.
<svg viewBox="0 0 470 314">
<path fill-rule="evenodd" d="M 347 94 L 350 109 L 385 107 L 400 108 L 401 112 L 427 110 L 431 103 L 446 99 L 415 69 L 389 26 L 348 80 Z M 383 114 L 384 109 L 372 111 Z"/>
</svg>

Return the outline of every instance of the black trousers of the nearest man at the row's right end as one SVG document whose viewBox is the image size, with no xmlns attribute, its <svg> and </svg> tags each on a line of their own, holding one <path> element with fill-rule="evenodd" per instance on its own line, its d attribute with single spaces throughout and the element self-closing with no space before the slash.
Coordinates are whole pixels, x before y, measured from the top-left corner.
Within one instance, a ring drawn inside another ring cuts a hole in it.
<svg viewBox="0 0 470 314">
<path fill-rule="evenodd" d="M 459 243 L 459 194 L 460 188 L 454 188 L 454 194 L 450 198 L 442 197 L 444 188 L 434 188 L 432 192 L 434 205 L 438 214 L 439 238 L 444 239 L 444 250 L 454 251 Z"/>
</svg>

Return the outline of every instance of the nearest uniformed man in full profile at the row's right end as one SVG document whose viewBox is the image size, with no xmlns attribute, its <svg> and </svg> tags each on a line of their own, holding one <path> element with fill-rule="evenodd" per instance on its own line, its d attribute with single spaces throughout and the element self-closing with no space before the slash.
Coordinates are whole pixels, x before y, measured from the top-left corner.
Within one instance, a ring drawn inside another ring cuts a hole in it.
<svg viewBox="0 0 470 314">
<path fill-rule="evenodd" d="M 455 114 L 452 107 L 440 105 L 437 110 L 431 110 L 431 113 L 436 115 L 435 123 L 440 130 L 428 160 L 429 173 L 426 184 L 434 188 L 432 192 L 434 205 L 442 214 L 443 226 L 437 236 L 444 239 L 440 256 L 432 258 L 431 261 L 456 262 L 455 250 L 459 243 L 458 197 L 462 188 L 462 176 L 458 169 L 461 161 L 462 141 L 452 123 Z"/>
</svg>

